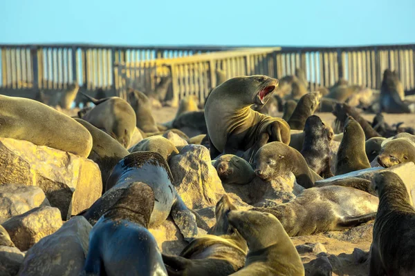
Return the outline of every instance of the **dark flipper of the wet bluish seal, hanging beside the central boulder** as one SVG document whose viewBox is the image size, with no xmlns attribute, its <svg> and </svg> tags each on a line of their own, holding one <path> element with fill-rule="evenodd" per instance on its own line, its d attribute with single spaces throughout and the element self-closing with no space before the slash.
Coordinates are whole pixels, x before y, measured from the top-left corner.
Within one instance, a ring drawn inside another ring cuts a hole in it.
<svg viewBox="0 0 415 276">
<path fill-rule="evenodd" d="M 196 219 L 177 193 L 170 215 L 186 241 L 190 241 L 198 235 Z"/>
</svg>

